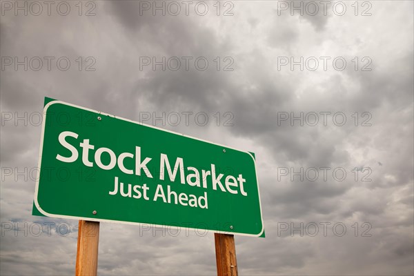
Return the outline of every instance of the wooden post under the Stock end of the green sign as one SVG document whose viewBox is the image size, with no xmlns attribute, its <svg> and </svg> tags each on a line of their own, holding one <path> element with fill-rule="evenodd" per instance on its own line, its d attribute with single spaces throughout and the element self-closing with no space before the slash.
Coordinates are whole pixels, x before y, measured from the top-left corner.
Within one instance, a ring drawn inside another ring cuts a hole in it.
<svg viewBox="0 0 414 276">
<path fill-rule="evenodd" d="M 76 276 L 98 272 L 99 221 L 79 220 Z"/>
</svg>

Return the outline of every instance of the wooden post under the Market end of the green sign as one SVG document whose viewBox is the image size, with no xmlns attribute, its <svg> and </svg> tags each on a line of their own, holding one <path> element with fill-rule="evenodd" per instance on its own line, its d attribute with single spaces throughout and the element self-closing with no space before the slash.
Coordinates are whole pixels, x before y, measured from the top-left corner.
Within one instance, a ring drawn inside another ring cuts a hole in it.
<svg viewBox="0 0 414 276">
<path fill-rule="evenodd" d="M 217 276 L 237 276 L 235 236 L 214 234 Z"/>
</svg>

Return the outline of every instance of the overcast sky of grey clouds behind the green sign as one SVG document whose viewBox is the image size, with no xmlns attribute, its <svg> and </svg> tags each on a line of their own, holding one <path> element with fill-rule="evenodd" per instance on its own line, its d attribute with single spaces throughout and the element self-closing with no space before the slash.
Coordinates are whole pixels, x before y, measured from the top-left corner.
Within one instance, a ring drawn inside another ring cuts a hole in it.
<svg viewBox="0 0 414 276">
<path fill-rule="evenodd" d="M 45 96 L 255 152 L 240 275 L 414 274 L 413 1 L 48 5 L 1 1 L 1 275 L 75 273 L 77 221 L 31 215 Z M 98 273 L 215 274 L 171 234 L 101 223 Z"/>
</svg>

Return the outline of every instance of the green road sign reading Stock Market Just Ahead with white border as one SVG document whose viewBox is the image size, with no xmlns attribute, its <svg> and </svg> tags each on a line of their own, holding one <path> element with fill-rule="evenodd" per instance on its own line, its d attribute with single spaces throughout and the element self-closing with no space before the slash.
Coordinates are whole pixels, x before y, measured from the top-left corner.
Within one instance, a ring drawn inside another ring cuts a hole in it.
<svg viewBox="0 0 414 276">
<path fill-rule="evenodd" d="M 34 195 L 42 215 L 264 234 L 251 153 L 45 103 Z"/>
</svg>

